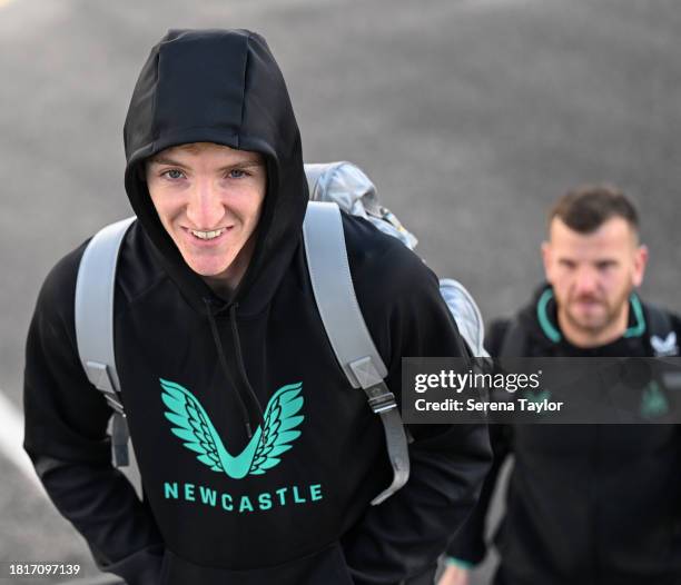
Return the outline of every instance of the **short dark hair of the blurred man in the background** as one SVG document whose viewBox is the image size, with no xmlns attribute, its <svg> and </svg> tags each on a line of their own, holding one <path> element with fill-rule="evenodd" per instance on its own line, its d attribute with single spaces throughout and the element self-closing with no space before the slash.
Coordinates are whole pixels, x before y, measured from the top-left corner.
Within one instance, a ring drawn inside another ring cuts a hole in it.
<svg viewBox="0 0 681 585">
<path fill-rule="evenodd" d="M 592 234 L 613 217 L 626 220 L 634 234 L 639 232 L 636 208 L 611 185 L 584 185 L 568 191 L 551 209 L 549 226 L 556 217 L 580 234 Z"/>
</svg>

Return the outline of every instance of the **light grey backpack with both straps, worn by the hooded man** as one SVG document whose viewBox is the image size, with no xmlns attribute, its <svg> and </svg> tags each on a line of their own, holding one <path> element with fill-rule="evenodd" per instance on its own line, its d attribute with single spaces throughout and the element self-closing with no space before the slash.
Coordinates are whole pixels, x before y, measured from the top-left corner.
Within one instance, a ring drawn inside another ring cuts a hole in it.
<svg viewBox="0 0 681 585">
<path fill-rule="evenodd" d="M 314 297 L 338 364 L 353 388 L 362 388 L 372 410 L 381 417 L 388 458 L 391 485 L 373 505 L 397 492 L 409 476 L 405 433 L 394 394 L 385 385 L 387 368 L 368 333 L 349 274 L 340 209 L 363 217 L 379 230 L 413 249 L 416 238 L 378 202 L 376 189 L 366 175 L 348 162 L 306 165 L 310 202 L 303 224 L 307 266 Z M 120 383 L 114 351 L 114 292 L 118 252 L 135 221 L 130 217 L 106 226 L 90 240 L 80 261 L 76 282 L 76 338 L 78 353 L 90 383 L 114 410 L 109 434 L 112 462 L 128 466 L 129 433 L 120 399 Z M 473 355 L 483 348 L 483 321 L 475 301 L 456 280 L 440 281 L 441 292 Z M 137 473 L 127 474 L 138 493 Z"/>
</svg>

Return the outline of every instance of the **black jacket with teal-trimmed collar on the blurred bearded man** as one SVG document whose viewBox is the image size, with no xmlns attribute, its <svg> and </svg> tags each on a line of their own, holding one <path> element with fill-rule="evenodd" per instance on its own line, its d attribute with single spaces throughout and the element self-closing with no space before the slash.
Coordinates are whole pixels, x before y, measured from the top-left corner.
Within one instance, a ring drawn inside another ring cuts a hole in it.
<svg viewBox="0 0 681 585">
<path fill-rule="evenodd" d="M 540 288 L 521 310 L 524 355 L 652 356 L 648 315 L 631 310 L 630 337 L 580 349 L 559 330 L 555 303 Z M 638 297 L 634 300 L 638 301 Z M 670 315 L 681 339 L 681 321 Z M 499 356 L 510 321 L 492 324 L 487 349 Z M 507 585 L 671 585 L 681 583 L 681 434 L 673 425 L 491 425 L 493 468 L 481 499 L 447 547 L 483 559 L 484 522 L 499 472 L 514 456 L 505 515 L 495 535 L 497 578 Z"/>
</svg>

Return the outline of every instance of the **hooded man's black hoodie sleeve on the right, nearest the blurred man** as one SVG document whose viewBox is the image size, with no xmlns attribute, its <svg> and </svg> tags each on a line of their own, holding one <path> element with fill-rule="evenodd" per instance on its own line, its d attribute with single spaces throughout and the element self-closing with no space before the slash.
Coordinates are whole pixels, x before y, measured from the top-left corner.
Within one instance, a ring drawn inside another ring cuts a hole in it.
<svg viewBox="0 0 681 585">
<path fill-rule="evenodd" d="M 435 275 L 418 259 L 411 268 L 402 272 L 405 281 L 395 281 L 394 271 L 383 280 L 392 291 L 393 310 L 383 329 L 389 339 L 378 339 L 378 345 L 391 346 L 386 383 L 398 400 L 403 356 L 467 355 Z M 363 311 L 367 314 L 365 307 Z M 396 584 L 434 566 L 452 532 L 473 509 L 487 472 L 486 426 L 413 425 L 409 430 L 415 440 L 409 445 L 407 484 L 381 505 L 369 506 L 343 539 L 357 585 Z"/>
</svg>

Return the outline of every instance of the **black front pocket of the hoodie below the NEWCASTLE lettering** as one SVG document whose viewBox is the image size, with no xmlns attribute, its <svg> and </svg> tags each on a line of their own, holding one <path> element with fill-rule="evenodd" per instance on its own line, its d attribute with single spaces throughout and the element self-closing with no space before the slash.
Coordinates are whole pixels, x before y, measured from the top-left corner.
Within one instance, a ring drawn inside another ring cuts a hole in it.
<svg viewBox="0 0 681 585">
<path fill-rule="evenodd" d="M 263 551 L 263 564 L 267 551 Z M 268 567 L 230 569 L 197 565 L 166 549 L 160 585 L 353 585 L 340 545 Z"/>
</svg>

